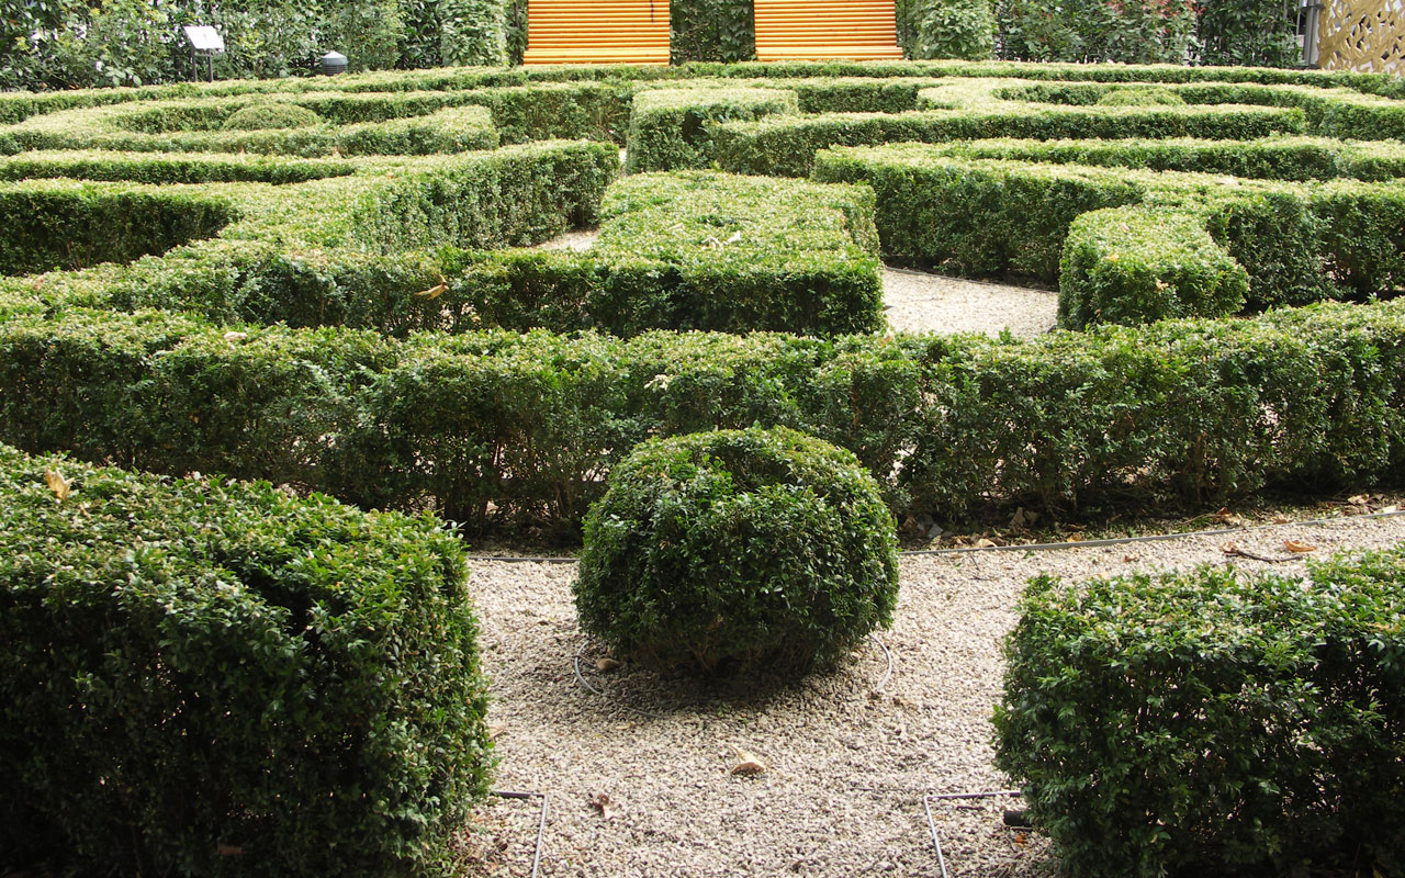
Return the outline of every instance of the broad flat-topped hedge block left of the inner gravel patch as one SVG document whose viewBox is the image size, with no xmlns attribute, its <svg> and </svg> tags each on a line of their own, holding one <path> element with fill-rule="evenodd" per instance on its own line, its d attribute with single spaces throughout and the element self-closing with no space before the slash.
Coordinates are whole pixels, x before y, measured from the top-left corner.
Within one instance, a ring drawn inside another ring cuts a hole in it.
<svg viewBox="0 0 1405 878">
<path fill-rule="evenodd" d="M 707 171 L 631 177 L 606 192 L 594 258 L 610 280 L 590 310 L 617 334 L 884 327 L 865 187 Z"/>
</svg>

